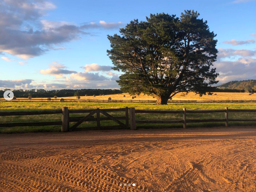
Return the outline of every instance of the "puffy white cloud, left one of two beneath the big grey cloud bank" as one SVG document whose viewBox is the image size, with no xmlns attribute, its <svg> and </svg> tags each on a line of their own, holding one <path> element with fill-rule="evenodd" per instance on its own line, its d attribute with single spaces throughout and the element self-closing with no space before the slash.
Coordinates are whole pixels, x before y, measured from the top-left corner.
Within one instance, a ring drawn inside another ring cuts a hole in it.
<svg viewBox="0 0 256 192">
<path fill-rule="evenodd" d="M 55 76 L 56 79 L 66 79 L 65 76 L 63 76 L 64 74 L 71 74 L 71 73 L 77 73 L 76 71 L 73 70 L 65 70 L 64 65 L 59 64 L 57 62 L 52 62 L 53 64 L 49 64 L 49 69 L 46 70 L 40 70 L 40 73 L 42 73 L 43 75 L 53 75 Z"/>
</svg>

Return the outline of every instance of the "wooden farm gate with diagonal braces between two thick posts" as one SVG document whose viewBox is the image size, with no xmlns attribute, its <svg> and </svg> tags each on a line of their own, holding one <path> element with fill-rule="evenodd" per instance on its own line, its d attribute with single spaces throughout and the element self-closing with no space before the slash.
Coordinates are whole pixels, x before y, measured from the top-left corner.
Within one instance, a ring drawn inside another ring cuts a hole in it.
<svg viewBox="0 0 256 192">
<path fill-rule="evenodd" d="M 115 117 L 111 116 L 107 112 L 116 112 L 116 111 L 124 111 L 125 116 L 121 117 Z M 71 111 L 72 112 L 72 111 Z M 74 111 L 73 111 L 74 112 Z M 104 115 L 105 117 L 100 117 L 100 113 Z M 93 115 L 96 114 L 96 118 L 94 118 Z M 113 128 L 129 128 L 129 108 L 120 108 L 120 109 L 96 109 L 91 111 L 87 116 L 85 117 L 70 117 L 69 122 L 77 122 L 74 125 L 72 125 L 69 130 L 89 130 L 89 129 L 113 129 Z M 116 122 L 118 125 L 112 125 L 112 126 L 101 126 L 100 121 L 104 120 L 112 120 Z M 125 124 L 123 122 L 120 122 L 119 120 L 125 120 Z M 97 127 L 86 127 L 86 128 L 77 128 L 79 125 L 81 125 L 83 122 L 87 121 L 97 121 Z"/>
</svg>

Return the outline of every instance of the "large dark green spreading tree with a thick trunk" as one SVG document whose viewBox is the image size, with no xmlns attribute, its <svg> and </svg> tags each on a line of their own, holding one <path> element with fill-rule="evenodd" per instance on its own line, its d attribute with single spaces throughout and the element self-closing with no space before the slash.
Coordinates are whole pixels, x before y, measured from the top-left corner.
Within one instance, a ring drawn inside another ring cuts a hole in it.
<svg viewBox="0 0 256 192">
<path fill-rule="evenodd" d="M 108 36 L 107 50 L 114 70 L 122 71 L 118 84 L 130 94 L 152 94 L 157 104 L 182 91 L 205 94 L 216 83 L 216 35 L 199 13 L 150 15 L 131 21 L 120 35 Z"/>
</svg>

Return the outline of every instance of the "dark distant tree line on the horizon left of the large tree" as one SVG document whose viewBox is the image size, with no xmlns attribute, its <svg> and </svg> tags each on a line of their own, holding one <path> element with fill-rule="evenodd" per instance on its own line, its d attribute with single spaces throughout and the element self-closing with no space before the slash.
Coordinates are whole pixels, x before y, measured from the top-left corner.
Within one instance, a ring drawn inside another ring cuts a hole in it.
<svg viewBox="0 0 256 192">
<path fill-rule="evenodd" d="M 0 90 L 0 95 L 3 95 L 4 91 L 10 89 Z M 31 90 L 13 90 L 14 96 L 16 98 L 28 98 L 31 96 L 32 98 L 52 98 L 54 96 L 57 97 L 72 97 L 72 96 L 88 96 L 100 95 L 100 94 L 120 94 L 122 93 L 118 89 L 62 89 L 62 90 L 44 90 L 44 89 L 31 89 Z"/>
</svg>

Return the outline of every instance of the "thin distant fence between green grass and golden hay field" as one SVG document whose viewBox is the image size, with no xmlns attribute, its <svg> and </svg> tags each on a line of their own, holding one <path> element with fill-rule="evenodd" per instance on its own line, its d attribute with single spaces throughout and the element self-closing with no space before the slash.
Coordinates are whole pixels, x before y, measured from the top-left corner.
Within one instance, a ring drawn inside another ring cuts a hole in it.
<svg viewBox="0 0 256 192">
<path fill-rule="evenodd" d="M 97 100 L 97 99 L 43 99 L 43 98 L 32 98 L 32 99 L 15 99 L 6 101 L 0 98 L 2 102 L 85 102 L 85 103 L 156 103 L 156 100 Z M 168 103 L 255 103 L 256 100 L 170 100 Z"/>
</svg>

